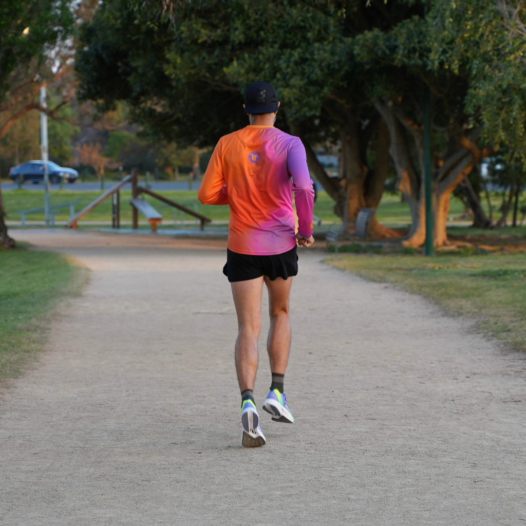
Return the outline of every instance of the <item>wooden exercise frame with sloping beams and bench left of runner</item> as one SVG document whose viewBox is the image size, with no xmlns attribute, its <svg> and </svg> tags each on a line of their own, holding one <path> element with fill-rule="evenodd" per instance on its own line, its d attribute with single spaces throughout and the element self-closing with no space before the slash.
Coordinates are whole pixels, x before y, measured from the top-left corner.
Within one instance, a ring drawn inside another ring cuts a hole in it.
<svg viewBox="0 0 526 526">
<path fill-rule="evenodd" d="M 195 210 L 191 210 L 184 205 L 180 205 L 167 197 L 161 196 L 150 189 L 138 185 L 138 170 L 133 168 L 131 174 L 127 175 L 113 188 L 107 190 L 104 194 L 100 195 L 92 203 L 86 206 L 84 209 L 69 219 L 66 223 L 66 228 L 78 228 L 79 219 L 83 218 L 86 214 L 89 214 L 95 207 L 103 203 L 108 197 L 112 197 L 112 228 L 120 228 L 120 189 L 126 184 L 131 182 L 131 227 L 134 229 L 139 228 L 139 217 L 138 213 L 143 214 L 151 225 L 151 230 L 153 232 L 157 231 L 157 225 L 163 221 L 163 215 L 159 213 L 153 206 L 151 206 L 144 198 L 139 197 L 140 194 L 147 194 L 159 201 L 162 201 L 164 204 L 174 207 L 182 213 L 188 214 L 195 217 L 200 222 L 200 229 L 205 229 L 205 224 L 211 222 L 211 219 L 199 214 Z"/>
</svg>

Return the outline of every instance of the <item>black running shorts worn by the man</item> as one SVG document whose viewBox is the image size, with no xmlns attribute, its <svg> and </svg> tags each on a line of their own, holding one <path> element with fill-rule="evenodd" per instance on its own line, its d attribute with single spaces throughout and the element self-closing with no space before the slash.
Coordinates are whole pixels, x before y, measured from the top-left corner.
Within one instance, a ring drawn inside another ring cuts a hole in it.
<svg viewBox="0 0 526 526">
<path fill-rule="evenodd" d="M 228 281 L 246 281 L 261 276 L 268 276 L 272 281 L 276 278 L 287 279 L 298 274 L 298 247 L 283 254 L 272 256 L 253 256 L 239 254 L 227 249 L 227 262 L 223 274 Z"/>
</svg>

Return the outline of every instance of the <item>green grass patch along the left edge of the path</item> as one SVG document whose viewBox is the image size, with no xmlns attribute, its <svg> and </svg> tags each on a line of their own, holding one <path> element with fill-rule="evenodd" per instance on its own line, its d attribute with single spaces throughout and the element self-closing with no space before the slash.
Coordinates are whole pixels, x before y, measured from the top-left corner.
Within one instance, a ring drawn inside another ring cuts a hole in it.
<svg viewBox="0 0 526 526">
<path fill-rule="evenodd" d="M 62 254 L 0 248 L 0 381 L 42 350 L 58 301 L 79 294 L 86 276 Z"/>
</svg>

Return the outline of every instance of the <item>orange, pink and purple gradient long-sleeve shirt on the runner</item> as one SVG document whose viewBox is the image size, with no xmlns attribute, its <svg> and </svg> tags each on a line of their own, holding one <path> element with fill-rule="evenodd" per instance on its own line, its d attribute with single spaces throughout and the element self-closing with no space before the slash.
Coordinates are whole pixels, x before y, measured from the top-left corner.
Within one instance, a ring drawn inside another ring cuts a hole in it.
<svg viewBox="0 0 526 526">
<path fill-rule="evenodd" d="M 228 248 L 239 254 L 282 254 L 298 232 L 312 235 L 314 189 L 305 147 L 274 126 L 247 126 L 219 139 L 197 197 L 229 205 Z"/>
</svg>

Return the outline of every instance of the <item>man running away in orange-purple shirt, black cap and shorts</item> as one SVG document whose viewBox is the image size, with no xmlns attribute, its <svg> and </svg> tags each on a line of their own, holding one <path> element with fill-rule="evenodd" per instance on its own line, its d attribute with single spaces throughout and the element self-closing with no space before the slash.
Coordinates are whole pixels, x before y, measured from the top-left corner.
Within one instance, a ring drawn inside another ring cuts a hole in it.
<svg viewBox="0 0 526 526">
<path fill-rule="evenodd" d="M 289 296 L 292 276 L 298 274 L 297 245 L 314 242 L 314 190 L 301 140 L 274 127 L 279 108 L 274 87 L 251 84 L 243 106 L 250 125 L 219 139 L 197 196 L 204 204 L 230 205 L 223 273 L 232 287 L 239 326 L 235 356 L 241 443 L 251 448 L 266 443 L 254 400 L 264 282 L 272 383 L 263 409 L 276 422 L 294 422 L 283 389 L 290 350 Z M 296 235 L 292 191 L 299 219 Z"/>
</svg>

